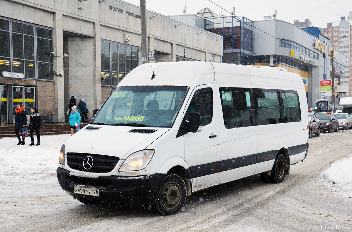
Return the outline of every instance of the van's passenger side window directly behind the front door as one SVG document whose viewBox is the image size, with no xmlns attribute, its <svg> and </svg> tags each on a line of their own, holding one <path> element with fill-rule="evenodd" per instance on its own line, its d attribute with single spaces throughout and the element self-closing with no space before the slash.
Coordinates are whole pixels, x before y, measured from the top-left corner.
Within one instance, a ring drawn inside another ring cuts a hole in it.
<svg viewBox="0 0 352 232">
<path fill-rule="evenodd" d="M 222 115 L 227 129 L 253 126 L 251 90 L 220 87 Z"/>
</svg>

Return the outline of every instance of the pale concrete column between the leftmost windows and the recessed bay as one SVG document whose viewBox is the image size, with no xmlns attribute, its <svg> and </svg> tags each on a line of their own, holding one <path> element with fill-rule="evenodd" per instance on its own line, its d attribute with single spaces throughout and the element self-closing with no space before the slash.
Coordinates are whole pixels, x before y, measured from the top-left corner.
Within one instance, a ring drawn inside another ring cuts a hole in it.
<svg viewBox="0 0 352 232">
<path fill-rule="evenodd" d="M 53 43 L 54 43 L 54 71 L 60 73 L 64 71 L 63 59 L 63 33 L 62 33 L 62 14 L 55 13 L 54 15 L 54 30 L 53 30 Z M 58 115 L 58 121 L 64 121 L 64 77 L 54 76 L 55 81 L 55 112 Z M 54 109 L 53 109 L 54 110 Z"/>
</svg>

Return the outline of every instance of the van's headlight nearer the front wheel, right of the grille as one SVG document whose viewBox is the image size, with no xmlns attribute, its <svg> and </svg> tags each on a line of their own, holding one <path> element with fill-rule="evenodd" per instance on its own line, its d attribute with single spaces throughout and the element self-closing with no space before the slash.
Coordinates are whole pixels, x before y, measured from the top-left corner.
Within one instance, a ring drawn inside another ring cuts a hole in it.
<svg viewBox="0 0 352 232">
<path fill-rule="evenodd" d="M 128 155 L 127 159 L 121 165 L 119 172 L 144 169 L 152 159 L 154 152 L 154 150 L 147 149 Z"/>
</svg>

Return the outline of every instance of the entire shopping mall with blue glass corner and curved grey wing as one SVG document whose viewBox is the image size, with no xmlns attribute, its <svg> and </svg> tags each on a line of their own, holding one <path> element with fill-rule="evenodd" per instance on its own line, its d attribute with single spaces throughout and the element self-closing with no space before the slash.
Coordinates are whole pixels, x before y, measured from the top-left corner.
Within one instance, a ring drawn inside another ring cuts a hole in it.
<svg viewBox="0 0 352 232">
<path fill-rule="evenodd" d="M 300 74 L 309 107 L 324 98 L 320 93 L 320 80 L 331 79 L 331 54 L 334 51 L 336 104 L 338 97 L 348 92 L 347 86 L 339 85 L 339 78 L 344 78 L 345 55 L 332 49 L 331 35 L 323 29 L 303 30 L 277 19 L 253 22 L 245 17 L 219 17 L 209 8 L 193 15 L 170 17 L 223 36 L 224 63 L 278 66 Z M 331 97 L 325 98 L 331 106 Z"/>
</svg>

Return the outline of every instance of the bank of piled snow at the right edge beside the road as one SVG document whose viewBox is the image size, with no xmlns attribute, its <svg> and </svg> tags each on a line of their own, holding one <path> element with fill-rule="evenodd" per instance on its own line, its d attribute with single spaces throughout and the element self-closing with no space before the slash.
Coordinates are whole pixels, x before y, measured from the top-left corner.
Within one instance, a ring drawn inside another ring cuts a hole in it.
<svg viewBox="0 0 352 232">
<path fill-rule="evenodd" d="M 352 197 L 352 156 L 333 163 L 320 174 L 320 181 L 331 191 Z"/>
</svg>

